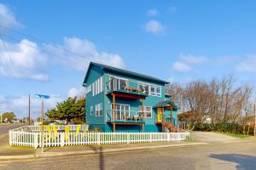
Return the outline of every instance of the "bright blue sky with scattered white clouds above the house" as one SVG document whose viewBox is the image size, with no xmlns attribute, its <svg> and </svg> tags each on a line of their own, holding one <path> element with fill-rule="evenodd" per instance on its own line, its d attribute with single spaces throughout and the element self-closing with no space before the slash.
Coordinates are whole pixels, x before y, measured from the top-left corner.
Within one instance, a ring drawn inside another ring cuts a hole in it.
<svg viewBox="0 0 256 170">
<path fill-rule="evenodd" d="M 27 94 L 49 94 L 47 108 L 81 94 L 90 59 L 171 82 L 233 74 L 254 86 L 255 5 L 231 0 L 2 1 L 0 25 L 47 43 L 0 29 L 8 48 L 0 41 L 0 108 L 25 116 Z M 32 98 L 32 116 L 39 115 L 39 105 Z"/>
</svg>

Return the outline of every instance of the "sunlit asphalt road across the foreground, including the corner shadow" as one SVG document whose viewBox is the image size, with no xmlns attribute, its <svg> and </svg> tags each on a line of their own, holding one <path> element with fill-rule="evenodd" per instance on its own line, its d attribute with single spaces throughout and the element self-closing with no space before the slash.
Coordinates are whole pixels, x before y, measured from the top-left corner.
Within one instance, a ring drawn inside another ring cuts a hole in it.
<svg viewBox="0 0 256 170">
<path fill-rule="evenodd" d="M 90 156 L 0 161 L 0 169 L 256 169 L 255 141 Z"/>
</svg>

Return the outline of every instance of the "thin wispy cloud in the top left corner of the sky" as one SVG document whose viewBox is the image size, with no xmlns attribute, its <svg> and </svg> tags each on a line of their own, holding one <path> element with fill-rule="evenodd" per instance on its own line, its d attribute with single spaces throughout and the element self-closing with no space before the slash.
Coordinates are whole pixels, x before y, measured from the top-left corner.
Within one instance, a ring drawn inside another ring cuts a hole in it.
<svg viewBox="0 0 256 170">
<path fill-rule="evenodd" d="M 15 14 L 3 3 L 0 3 L 0 25 L 7 27 L 20 27 L 21 24 L 16 20 Z M 1 28 L 0 31 L 6 31 Z"/>
</svg>

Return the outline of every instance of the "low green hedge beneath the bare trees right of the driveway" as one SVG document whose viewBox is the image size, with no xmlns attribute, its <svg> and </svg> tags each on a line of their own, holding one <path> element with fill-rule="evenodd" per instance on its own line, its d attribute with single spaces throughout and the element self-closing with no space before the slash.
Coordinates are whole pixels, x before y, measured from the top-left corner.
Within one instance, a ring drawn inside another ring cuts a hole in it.
<svg viewBox="0 0 256 170">
<path fill-rule="evenodd" d="M 219 122 L 196 124 L 197 131 L 218 131 L 222 133 L 242 133 L 242 126 L 238 123 Z"/>
</svg>

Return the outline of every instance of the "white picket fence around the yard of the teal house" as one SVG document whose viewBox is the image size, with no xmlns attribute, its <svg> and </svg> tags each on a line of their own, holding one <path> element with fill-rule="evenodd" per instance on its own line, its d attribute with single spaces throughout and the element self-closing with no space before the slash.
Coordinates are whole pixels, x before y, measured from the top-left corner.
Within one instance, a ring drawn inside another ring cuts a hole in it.
<svg viewBox="0 0 256 170">
<path fill-rule="evenodd" d="M 41 132 L 26 132 L 27 127 L 9 131 L 9 144 L 27 147 L 41 147 Z M 44 147 L 83 144 L 131 144 L 143 142 L 168 142 L 186 139 L 185 133 L 46 133 Z"/>
</svg>

